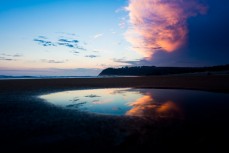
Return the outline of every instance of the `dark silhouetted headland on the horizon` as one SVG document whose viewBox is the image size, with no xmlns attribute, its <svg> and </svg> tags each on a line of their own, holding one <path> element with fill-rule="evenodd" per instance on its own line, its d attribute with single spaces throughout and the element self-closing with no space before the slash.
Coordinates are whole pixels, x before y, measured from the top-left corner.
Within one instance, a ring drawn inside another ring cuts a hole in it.
<svg viewBox="0 0 229 153">
<path fill-rule="evenodd" d="M 122 67 L 122 68 L 107 68 L 99 75 L 120 75 L 120 76 L 149 76 L 149 75 L 170 75 L 170 74 L 186 74 L 228 71 L 229 64 L 212 66 L 212 67 L 156 67 L 156 66 L 139 66 L 139 67 Z"/>
</svg>

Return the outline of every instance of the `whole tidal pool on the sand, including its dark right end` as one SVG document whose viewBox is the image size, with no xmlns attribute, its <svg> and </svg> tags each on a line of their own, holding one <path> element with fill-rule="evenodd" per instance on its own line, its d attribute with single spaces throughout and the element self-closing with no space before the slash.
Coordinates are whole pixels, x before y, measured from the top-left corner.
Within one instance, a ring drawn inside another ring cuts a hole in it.
<svg viewBox="0 0 229 153">
<path fill-rule="evenodd" d="M 216 111 L 219 114 L 229 103 L 229 94 L 175 89 L 87 89 L 51 93 L 40 98 L 66 109 L 138 117 L 182 118 Z"/>
</svg>

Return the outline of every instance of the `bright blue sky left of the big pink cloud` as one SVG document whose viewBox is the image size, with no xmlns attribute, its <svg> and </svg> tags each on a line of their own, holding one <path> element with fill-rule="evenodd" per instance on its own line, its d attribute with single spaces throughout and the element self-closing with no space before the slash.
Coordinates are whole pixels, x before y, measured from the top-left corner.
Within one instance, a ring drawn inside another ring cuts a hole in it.
<svg viewBox="0 0 229 153">
<path fill-rule="evenodd" d="M 94 69 L 123 65 L 114 58 L 138 58 L 120 25 L 127 15 L 125 5 L 124 0 L 1 1 L 0 56 L 5 60 L 0 60 L 0 73 L 72 69 L 71 74 L 81 75 L 76 69 L 84 68 L 94 75 Z M 77 40 L 80 49 L 58 45 L 60 39 Z M 44 46 L 40 40 L 55 45 Z"/>
</svg>

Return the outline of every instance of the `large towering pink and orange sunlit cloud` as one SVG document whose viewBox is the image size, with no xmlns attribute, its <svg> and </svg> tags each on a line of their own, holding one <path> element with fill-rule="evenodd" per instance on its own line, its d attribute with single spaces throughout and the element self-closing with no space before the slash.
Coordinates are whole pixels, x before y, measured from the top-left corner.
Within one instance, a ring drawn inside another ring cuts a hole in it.
<svg viewBox="0 0 229 153">
<path fill-rule="evenodd" d="M 207 8 L 198 0 L 129 0 L 126 39 L 147 59 L 157 51 L 173 52 L 187 39 L 187 20 Z"/>
</svg>

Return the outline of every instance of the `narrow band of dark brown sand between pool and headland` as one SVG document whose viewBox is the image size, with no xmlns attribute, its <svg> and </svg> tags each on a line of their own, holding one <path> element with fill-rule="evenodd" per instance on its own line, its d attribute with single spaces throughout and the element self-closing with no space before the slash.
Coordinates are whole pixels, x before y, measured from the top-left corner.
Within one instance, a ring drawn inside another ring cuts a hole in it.
<svg viewBox="0 0 229 153">
<path fill-rule="evenodd" d="M 229 93 L 229 75 L 0 80 L 0 92 L 78 88 L 159 88 Z"/>
</svg>

